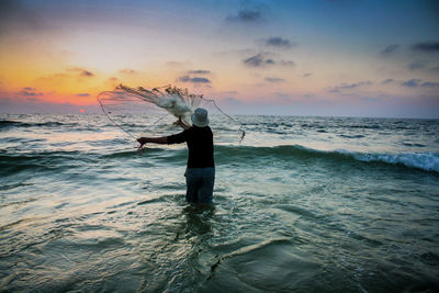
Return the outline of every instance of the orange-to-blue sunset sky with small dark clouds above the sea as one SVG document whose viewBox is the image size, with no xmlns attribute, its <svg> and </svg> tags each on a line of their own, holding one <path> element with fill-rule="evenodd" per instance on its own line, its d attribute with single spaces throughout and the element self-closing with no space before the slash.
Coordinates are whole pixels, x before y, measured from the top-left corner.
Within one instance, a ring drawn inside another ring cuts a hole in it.
<svg viewBox="0 0 439 293">
<path fill-rule="evenodd" d="M 0 0 L 0 113 L 120 83 L 232 114 L 439 119 L 439 1 Z"/>
</svg>

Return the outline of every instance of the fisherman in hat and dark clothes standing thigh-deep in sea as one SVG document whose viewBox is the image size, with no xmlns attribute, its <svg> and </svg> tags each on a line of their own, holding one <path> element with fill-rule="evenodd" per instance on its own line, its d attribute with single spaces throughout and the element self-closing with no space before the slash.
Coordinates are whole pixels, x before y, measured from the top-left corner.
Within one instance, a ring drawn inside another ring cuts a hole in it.
<svg viewBox="0 0 439 293">
<path fill-rule="evenodd" d="M 140 137 L 137 142 L 140 143 L 140 147 L 147 143 L 170 145 L 185 142 L 189 148 L 185 199 L 190 203 L 211 203 L 215 182 L 215 164 L 213 134 L 209 127 L 207 110 L 195 109 L 191 120 L 191 127 L 181 120 L 177 122 L 184 128 L 182 133 L 162 137 Z"/>
</svg>

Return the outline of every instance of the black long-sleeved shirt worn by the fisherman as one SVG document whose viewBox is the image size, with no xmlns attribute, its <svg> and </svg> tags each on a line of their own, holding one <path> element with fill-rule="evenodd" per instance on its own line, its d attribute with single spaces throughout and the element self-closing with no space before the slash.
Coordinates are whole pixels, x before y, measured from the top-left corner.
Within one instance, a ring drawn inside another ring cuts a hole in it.
<svg viewBox="0 0 439 293">
<path fill-rule="evenodd" d="M 211 127 L 192 126 L 182 133 L 168 136 L 169 145 L 184 142 L 189 148 L 188 168 L 215 167 Z"/>
</svg>

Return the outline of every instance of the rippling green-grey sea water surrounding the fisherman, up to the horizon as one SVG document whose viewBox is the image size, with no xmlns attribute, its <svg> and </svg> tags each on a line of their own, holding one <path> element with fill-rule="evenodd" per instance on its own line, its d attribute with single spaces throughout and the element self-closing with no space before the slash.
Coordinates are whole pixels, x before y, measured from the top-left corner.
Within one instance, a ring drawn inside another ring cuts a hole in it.
<svg viewBox="0 0 439 293">
<path fill-rule="evenodd" d="M 237 119 L 240 144 L 216 132 L 214 204 L 192 206 L 184 145 L 1 115 L 0 291 L 439 290 L 439 120 Z"/>
</svg>

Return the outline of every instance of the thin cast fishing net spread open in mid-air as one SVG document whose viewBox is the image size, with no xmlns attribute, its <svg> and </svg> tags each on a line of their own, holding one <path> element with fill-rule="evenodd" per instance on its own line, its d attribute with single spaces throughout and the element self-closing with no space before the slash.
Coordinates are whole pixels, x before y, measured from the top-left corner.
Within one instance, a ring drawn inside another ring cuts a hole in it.
<svg viewBox="0 0 439 293">
<path fill-rule="evenodd" d="M 176 125 L 179 120 L 191 126 L 191 114 L 196 108 L 209 111 L 215 143 L 240 143 L 245 136 L 237 119 L 221 110 L 214 100 L 191 94 L 187 89 L 171 86 L 145 89 L 120 84 L 112 91 L 101 92 L 98 101 L 106 117 L 134 139 L 182 131 Z"/>
</svg>

